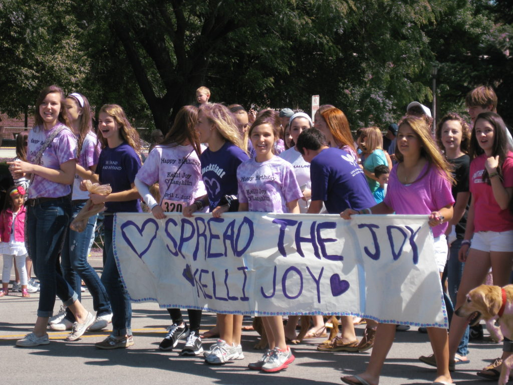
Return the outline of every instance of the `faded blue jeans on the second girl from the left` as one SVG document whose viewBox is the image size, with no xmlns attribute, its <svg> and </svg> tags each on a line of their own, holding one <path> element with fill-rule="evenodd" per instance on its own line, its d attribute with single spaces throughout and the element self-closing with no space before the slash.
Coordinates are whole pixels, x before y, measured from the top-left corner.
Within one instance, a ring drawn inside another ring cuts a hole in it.
<svg viewBox="0 0 513 385">
<path fill-rule="evenodd" d="M 86 202 L 71 202 L 73 216 L 70 220 L 76 217 L 80 210 L 86 205 Z M 61 254 L 61 264 L 64 272 L 64 278 L 71 285 L 73 290 L 78 294 L 78 299 L 81 299 L 81 279 L 84 280 L 89 293 L 93 297 L 93 308 L 97 316 L 111 313 L 109 297 L 107 291 L 103 286 L 100 277 L 94 271 L 94 268 L 87 262 L 87 254 L 89 251 L 89 244 L 91 236 L 94 232 L 94 225 L 96 223 L 96 215 L 93 215 L 87 221 L 86 229 L 82 233 L 77 233 L 69 228 L 64 240 L 63 251 Z M 73 313 L 68 309 L 66 311 L 66 318 L 74 321 Z"/>
</svg>

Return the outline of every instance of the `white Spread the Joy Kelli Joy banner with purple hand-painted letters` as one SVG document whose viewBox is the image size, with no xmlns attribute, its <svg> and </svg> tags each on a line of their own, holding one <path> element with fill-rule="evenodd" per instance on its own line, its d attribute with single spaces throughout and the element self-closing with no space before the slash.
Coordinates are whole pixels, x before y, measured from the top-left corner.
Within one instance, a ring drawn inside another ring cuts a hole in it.
<svg viewBox="0 0 513 385">
<path fill-rule="evenodd" d="M 427 216 L 126 213 L 113 243 L 133 302 L 448 327 Z"/>
</svg>

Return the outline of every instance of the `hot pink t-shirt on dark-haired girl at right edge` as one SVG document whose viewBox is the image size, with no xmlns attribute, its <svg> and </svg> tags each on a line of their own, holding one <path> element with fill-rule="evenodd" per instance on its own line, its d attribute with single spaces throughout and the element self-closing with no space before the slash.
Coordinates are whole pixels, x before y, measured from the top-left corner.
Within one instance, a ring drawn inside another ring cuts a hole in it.
<svg viewBox="0 0 513 385">
<path fill-rule="evenodd" d="M 501 210 L 494 198 L 494 191 L 483 182 L 484 163 L 483 153 L 470 162 L 469 189 L 474 197 L 474 231 L 475 232 L 504 232 L 513 229 L 513 215 L 509 208 Z M 502 165 L 504 187 L 513 187 L 513 152 L 509 151 Z"/>
</svg>

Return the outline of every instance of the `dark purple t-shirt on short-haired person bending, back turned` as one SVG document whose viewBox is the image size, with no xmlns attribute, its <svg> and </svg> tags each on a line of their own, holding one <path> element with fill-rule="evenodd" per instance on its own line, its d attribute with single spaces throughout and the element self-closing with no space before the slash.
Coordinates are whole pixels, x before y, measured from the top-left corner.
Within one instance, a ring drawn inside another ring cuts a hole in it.
<svg viewBox="0 0 513 385">
<path fill-rule="evenodd" d="M 312 201 L 324 201 L 329 214 L 376 204 L 365 174 L 344 150 L 325 148 L 310 162 Z"/>
</svg>

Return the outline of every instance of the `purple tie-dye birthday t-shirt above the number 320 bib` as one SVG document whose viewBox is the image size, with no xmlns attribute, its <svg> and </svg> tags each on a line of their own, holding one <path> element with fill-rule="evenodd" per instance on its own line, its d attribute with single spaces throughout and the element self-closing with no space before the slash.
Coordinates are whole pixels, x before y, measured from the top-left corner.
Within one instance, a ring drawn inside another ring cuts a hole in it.
<svg viewBox="0 0 513 385">
<path fill-rule="evenodd" d="M 161 201 L 181 202 L 182 206 L 207 194 L 201 179 L 200 158 L 191 145 L 156 145 L 137 178 L 147 185 L 159 182 Z"/>
</svg>

